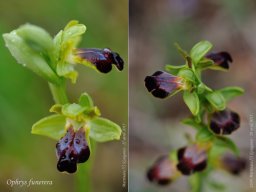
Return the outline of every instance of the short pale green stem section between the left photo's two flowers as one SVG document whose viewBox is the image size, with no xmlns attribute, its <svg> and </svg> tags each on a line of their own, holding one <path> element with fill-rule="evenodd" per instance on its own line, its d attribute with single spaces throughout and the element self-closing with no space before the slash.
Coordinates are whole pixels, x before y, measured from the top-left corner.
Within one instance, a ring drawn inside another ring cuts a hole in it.
<svg viewBox="0 0 256 192">
<path fill-rule="evenodd" d="M 66 94 L 66 82 L 63 81 L 61 84 L 56 85 L 49 83 L 49 87 L 55 103 L 66 104 L 68 103 L 68 97 Z"/>
</svg>

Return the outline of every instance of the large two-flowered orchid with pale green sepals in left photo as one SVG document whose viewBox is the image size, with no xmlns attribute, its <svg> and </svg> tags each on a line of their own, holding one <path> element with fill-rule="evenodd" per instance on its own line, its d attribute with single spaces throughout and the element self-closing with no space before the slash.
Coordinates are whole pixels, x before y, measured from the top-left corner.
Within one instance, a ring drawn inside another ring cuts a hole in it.
<svg viewBox="0 0 256 192">
<path fill-rule="evenodd" d="M 18 63 L 45 79 L 52 92 L 55 105 L 45 117 L 32 126 L 32 133 L 58 140 L 57 169 L 74 173 L 77 163 L 87 161 L 91 154 L 90 139 L 97 142 L 119 140 L 121 128 L 100 117 L 100 110 L 87 93 L 77 103 L 70 103 L 66 95 L 66 81 L 75 83 L 77 64 L 101 73 L 108 73 L 112 64 L 123 70 L 124 61 L 109 48 L 77 48 L 86 26 L 70 21 L 54 38 L 41 27 L 25 24 L 3 34 L 6 47 Z"/>
</svg>

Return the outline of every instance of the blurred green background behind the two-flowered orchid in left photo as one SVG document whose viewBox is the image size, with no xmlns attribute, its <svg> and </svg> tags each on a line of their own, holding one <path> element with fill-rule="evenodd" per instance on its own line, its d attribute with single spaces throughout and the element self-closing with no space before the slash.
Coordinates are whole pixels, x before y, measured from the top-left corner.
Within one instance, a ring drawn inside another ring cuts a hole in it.
<svg viewBox="0 0 256 192">
<path fill-rule="evenodd" d="M 94 99 L 102 116 L 127 125 L 127 0 L 8 0 L 0 1 L 0 32 L 7 33 L 24 23 L 45 28 L 53 36 L 69 20 L 87 26 L 80 47 L 111 48 L 125 61 L 122 72 L 109 74 L 77 66 L 76 85 L 68 85 L 68 96 L 76 101 L 84 91 Z M 31 135 L 33 123 L 49 115 L 53 105 L 48 85 L 16 63 L 0 38 L 0 191 L 75 191 L 74 175 L 57 171 L 55 141 Z M 126 126 L 127 127 L 127 126 Z M 99 144 L 93 166 L 95 192 L 120 192 L 122 187 L 121 141 Z M 111 174 L 111 177 L 109 175 Z M 7 179 L 52 180 L 52 186 L 10 187 Z"/>
</svg>

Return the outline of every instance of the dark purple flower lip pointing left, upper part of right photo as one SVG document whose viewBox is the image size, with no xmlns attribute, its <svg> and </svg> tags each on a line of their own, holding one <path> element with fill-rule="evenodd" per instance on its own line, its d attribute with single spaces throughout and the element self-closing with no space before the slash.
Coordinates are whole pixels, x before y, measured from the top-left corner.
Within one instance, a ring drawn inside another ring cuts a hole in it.
<svg viewBox="0 0 256 192">
<path fill-rule="evenodd" d="M 155 97 L 166 98 L 182 88 L 182 78 L 164 71 L 157 71 L 145 78 L 145 86 Z"/>
</svg>

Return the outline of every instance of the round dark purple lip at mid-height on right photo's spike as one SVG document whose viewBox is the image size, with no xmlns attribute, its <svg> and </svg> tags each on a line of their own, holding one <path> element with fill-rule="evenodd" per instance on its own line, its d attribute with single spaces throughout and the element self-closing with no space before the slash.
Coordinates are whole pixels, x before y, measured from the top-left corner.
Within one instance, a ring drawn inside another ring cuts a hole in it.
<svg viewBox="0 0 256 192">
<path fill-rule="evenodd" d="M 228 135 L 240 127 L 240 117 L 231 110 L 217 111 L 210 117 L 210 129 L 219 135 Z"/>
</svg>

